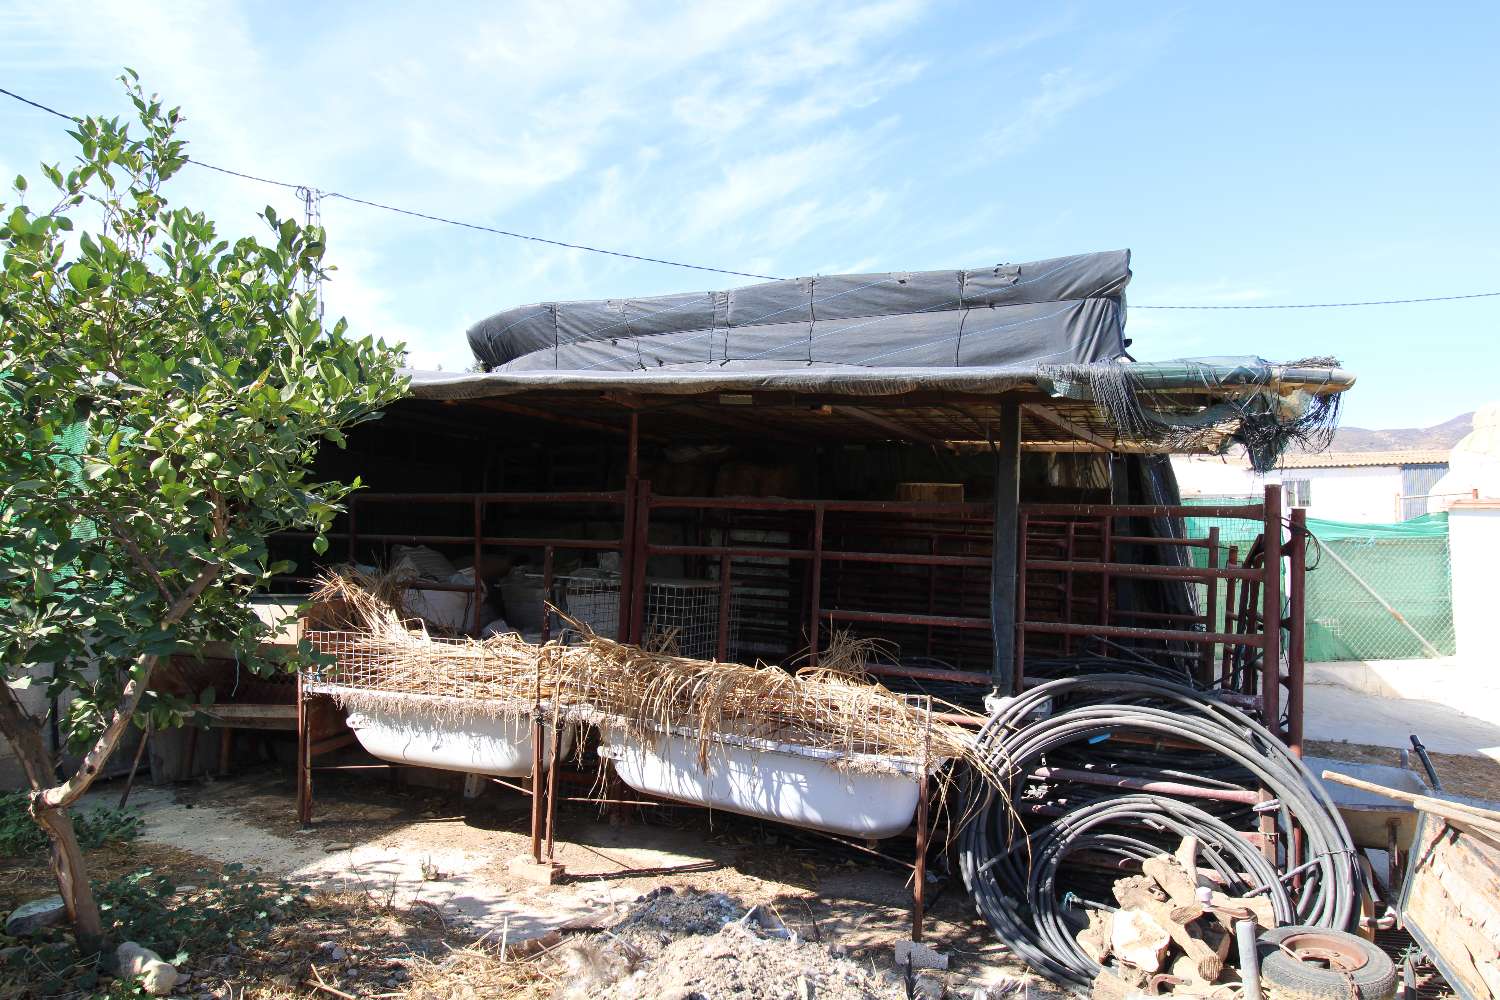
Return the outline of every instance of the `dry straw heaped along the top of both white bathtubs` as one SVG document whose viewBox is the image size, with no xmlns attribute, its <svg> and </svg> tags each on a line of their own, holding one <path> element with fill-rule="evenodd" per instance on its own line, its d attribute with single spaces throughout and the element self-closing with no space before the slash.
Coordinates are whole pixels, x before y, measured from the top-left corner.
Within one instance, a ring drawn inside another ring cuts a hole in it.
<svg viewBox="0 0 1500 1000">
<path fill-rule="evenodd" d="M 339 601 L 358 619 L 351 631 L 309 636 L 333 654 L 316 681 L 346 708 L 514 717 L 548 705 L 550 715 L 624 729 L 640 741 L 688 735 L 702 765 L 722 738 L 796 744 L 848 766 L 870 766 L 870 757 L 930 765 L 978 757 L 968 732 L 932 720 L 930 702 L 867 681 L 861 666 L 874 648 L 848 636 L 836 669 L 794 675 L 642 649 L 580 622 L 570 622 L 582 636 L 572 646 L 537 646 L 516 634 L 435 639 L 350 577 L 326 577 L 315 597 Z"/>
</svg>

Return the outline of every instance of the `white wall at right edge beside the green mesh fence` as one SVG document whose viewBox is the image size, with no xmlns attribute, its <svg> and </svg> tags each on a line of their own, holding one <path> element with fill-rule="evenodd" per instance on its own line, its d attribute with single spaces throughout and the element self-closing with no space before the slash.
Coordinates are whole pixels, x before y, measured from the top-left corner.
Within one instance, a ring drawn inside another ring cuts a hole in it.
<svg viewBox="0 0 1500 1000">
<path fill-rule="evenodd" d="M 1448 532 L 1458 664 L 1478 684 L 1497 685 L 1500 499 L 1454 504 L 1448 511 Z"/>
</svg>

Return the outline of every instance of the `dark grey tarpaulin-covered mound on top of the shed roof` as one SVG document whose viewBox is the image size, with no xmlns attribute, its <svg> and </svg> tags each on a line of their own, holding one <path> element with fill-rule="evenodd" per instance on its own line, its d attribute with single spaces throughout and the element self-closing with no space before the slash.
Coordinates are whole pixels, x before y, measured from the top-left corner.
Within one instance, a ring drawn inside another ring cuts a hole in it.
<svg viewBox="0 0 1500 1000">
<path fill-rule="evenodd" d="M 1125 349 L 1130 250 L 970 271 L 830 274 L 730 291 L 537 303 L 468 331 L 501 373 L 1028 369 Z"/>
</svg>

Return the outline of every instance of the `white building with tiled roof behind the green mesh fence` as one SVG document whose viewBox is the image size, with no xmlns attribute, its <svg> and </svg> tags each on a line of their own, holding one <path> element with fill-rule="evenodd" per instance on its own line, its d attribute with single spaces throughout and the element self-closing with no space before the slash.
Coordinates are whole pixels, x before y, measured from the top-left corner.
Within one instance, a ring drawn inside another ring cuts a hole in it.
<svg viewBox="0 0 1500 1000">
<path fill-rule="evenodd" d="M 1448 471 L 1448 450 L 1287 454 L 1266 474 L 1233 454 L 1173 456 L 1172 468 L 1185 499 L 1252 496 L 1280 483 L 1286 504 L 1310 517 L 1389 523 L 1442 508 L 1431 493 Z"/>
</svg>

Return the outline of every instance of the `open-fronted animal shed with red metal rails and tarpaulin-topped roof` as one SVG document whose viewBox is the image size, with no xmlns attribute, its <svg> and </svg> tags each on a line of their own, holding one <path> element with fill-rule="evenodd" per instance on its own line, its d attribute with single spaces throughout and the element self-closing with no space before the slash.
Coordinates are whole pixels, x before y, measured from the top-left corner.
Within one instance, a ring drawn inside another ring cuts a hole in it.
<svg viewBox="0 0 1500 1000">
<path fill-rule="evenodd" d="M 1136 361 L 1128 282 L 1119 250 L 508 309 L 468 333 L 488 370 L 412 372 L 321 457 L 368 486 L 330 558 L 472 565 L 420 585 L 470 595 L 468 634 L 525 630 L 540 594 L 681 640 L 658 628 L 681 585 L 708 595 L 696 652 L 816 663 L 849 631 L 888 643 L 870 669 L 892 687 L 956 703 L 1131 649 L 1298 739 L 1300 535 L 1268 490 L 1218 511 L 1254 546 L 1186 537 L 1164 456 L 1238 444 L 1269 468 L 1322 442 L 1353 376 Z M 308 538 L 278 547 L 312 574 Z"/>
</svg>

